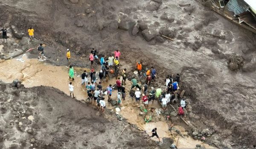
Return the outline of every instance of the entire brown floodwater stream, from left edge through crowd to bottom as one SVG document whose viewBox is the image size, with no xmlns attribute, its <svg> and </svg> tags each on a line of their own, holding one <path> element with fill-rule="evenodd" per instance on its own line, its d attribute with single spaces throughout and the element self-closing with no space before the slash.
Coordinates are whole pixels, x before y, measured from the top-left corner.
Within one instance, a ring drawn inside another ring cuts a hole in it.
<svg viewBox="0 0 256 149">
<path fill-rule="evenodd" d="M 0 47 L 1 48 L 1 47 Z M 33 86 L 52 86 L 54 88 L 60 89 L 69 95 L 69 87 L 68 84 L 71 81 L 74 86 L 74 94 L 76 99 L 82 100 L 87 97 L 87 93 L 85 91 L 85 86 L 81 86 L 81 77 L 80 75 L 84 70 L 90 72 L 88 68 L 74 68 L 75 71 L 75 80 L 70 80 L 68 76 L 69 69 L 67 66 L 52 66 L 46 62 L 40 62 L 37 59 L 28 59 L 26 54 L 21 55 L 19 57 L 13 58 L 11 60 L 2 61 L 1 63 L 1 73 L 0 79 L 4 82 L 11 83 L 15 79 L 19 79 L 22 81 L 25 87 L 33 87 Z M 89 77 L 90 78 L 90 77 Z M 99 81 L 97 81 L 99 82 Z M 115 78 L 112 77 L 108 82 L 102 83 L 103 88 L 106 88 L 109 84 L 114 84 Z M 127 81 L 126 86 L 131 86 L 131 82 Z M 127 87 L 128 88 L 128 87 Z M 130 88 L 130 87 L 129 87 Z M 158 122 L 149 122 L 145 123 L 143 117 L 140 116 L 140 109 L 138 107 L 134 107 L 135 105 L 134 99 L 128 95 L 128 90 L 126 92 L 126 100 L 122 100 L 122 107 L 120 115 L 127 119 L 129 123 L 136 124 L 140 129 L 145 130 L 148 135 L 151 135 L 151 130 L 157 127 L 157 133 L 162 141 L 164 137 L 171 137 L 169 127 L 166 121 L 158 121 Z M 108 97 L 105 96 L 105 99 Z M 117 92 L 114 91 L 112 94 L 112 99 L 117 99 Z M 108 102 L 106 102 L 106 106 L 109 109 L 115 109 L 115 107 L 111 106 Z M 143 104 L 140 103 L 140 106 Z M 157 102 L 154 104 L 150 103 L 149 107 L 160 108 Z M 32 118 L 32 117 L 31 117 Z M 186 135 L 185 129 L 181 126 L 175 126 L 176 129 L 179 129 L 184 135 Z M 157 138 L 152 138 L 153 140 L 158 140 Z M 175 142 L 177 141 L 177 137 L 174 138 Z M 179 138 L 178 148 L 194 148 L 196 144 L 203 143 L 198 140 L 193 140 L 191 137 Z M 207 144 L 204 144 L 207 149 L 215 149 Z"/>
</svg>

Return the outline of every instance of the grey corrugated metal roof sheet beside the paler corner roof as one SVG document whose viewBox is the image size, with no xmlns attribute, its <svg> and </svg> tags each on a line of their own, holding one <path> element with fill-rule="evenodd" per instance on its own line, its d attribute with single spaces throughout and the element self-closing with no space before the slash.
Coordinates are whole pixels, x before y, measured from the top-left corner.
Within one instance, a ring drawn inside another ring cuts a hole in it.
<svg viewBox="0 0 256 149">
<path fill-rule="evenodd" d="M 229 11 L 235 13 L 234 15 L 241 14 L 244 11 L 247 11 L 249 7 L 250 6 L 247 3 L 245 3 L 244 0 L 230 0 L 226 5 L 226 8 Z"/>
</svg>

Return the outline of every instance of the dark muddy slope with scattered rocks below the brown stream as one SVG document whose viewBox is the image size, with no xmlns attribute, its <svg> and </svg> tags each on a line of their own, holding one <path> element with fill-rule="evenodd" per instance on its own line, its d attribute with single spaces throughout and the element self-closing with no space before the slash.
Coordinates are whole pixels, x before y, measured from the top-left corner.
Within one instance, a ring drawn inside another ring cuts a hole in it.
<svg viewBox="0 0 256 149">
<path fill-rule="evenodd" d="M 3 82 L 0 89 L 1 149 L 155 148 L 137 129 L 106 119 L 57 89 L 17 89 Z"/>
</svg>

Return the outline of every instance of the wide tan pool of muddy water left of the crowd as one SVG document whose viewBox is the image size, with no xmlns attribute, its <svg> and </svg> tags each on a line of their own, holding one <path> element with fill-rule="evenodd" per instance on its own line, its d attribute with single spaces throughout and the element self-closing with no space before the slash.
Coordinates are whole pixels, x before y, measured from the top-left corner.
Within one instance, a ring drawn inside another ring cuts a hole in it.
<svg viewBox="0 0 256 149">
<path fill-rule="evenodd" d="M 76 69 L 78 71 L 76 71 Z M 6 60 L 1 63 L 0 79 L 5 82 L 12 82 L 15 79 L 22 81 L 24 86 L 52 86 L 69 95 L 68 84 L 71 81 L 74 86 L 74 93 L 77 99 L 85 98 L 85 86 L 81 86 L 81 68 L 75 68 L 75 80 L 69 79 L 69 69 L 65 66 L 52 66 L 37 59 L 28 59 L 22 55 L 15 59 Z M 88 70 L 88 69 L 87 69 Z M 79 73 L 80 72 L 80 73 Z"/>
</svg>

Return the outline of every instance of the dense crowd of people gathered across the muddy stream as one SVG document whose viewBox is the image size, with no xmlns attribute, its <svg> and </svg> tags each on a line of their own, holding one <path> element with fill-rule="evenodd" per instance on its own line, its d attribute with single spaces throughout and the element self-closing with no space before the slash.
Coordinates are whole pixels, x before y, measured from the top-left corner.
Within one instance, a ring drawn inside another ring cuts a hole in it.
<svg viewBox="0 0 256 149">
<path fill-rule="evenodd" d="M 98 52 L 96 51 L 96 49 L 92 48 L 89 56 L 91 64 L 90 72 L 87 73 L 86 70 L 84 70 L 83 74 L 81 74 L 81 85 L 85 86 L 85 89 L 87 90 L 86 101 L 87 103 L 95 104 L 98 109 L 104 111 L 106 106 L 104 95 L 108 95 L 108 102 L 116 99 L 116 103 L 122 106 L 122 100 L 125 100 L 126 96 L 125 85 L 127 79 L 127 69 L 122 69 L 120 71 L 121 74 L 119 74 L 121 52 L 119 52 L 119 50 L 116 50 L 113 52 L 113 54 L 110 54 L 108 58 L 106 58 L 105 55 L 102 55 L 101 58 L 99 58 L 97 56 L 97 53 Z M 73 66 L 70 65 L 71 56 L 69 49 L 67 49 L 66 56 L 67 63 L 70 68 L 69 77 L 70 79 L 74 80 L 74 69 Z M 94 69 L 96 65 L 95 62 L 99 63 L 101 66 L 98 76 L 96 76 L 96 71 Z M 88 79 L 89 73 L 90 82 Z M 107 89 L 104 90 L 102 82 L 108 82 L 109 74 L 114 74 L 114 76 L 116 77 L 116 83 L 109 84 Z M 135 102 L 137 105 L 139 105 L 140 100 L 142 100 L 145 109 L 148 109 L 149 102 L 152 100 L 152 103 L 154 103 L 154 100 L 157 100 L 159 103 L 161 103 L 163 110 L 166 110 L 167 107 L 170 106 L 172 103 L 177 102 L 177 90 L 179 89 L 180 83 L 179 74 L 176 74 L 175 78 L 173 74 L 166 77 L 166 79 L 164 80 L 164 86 L 166 86 L 166 89 L 154 89 L 154 87 L 151 85 L 151 82 L 157 78 L 157 71 L 156 69 L 154 69 L 154 66 L 151 66 L 150 69 L 146 68 L 145 70 L 143 70 L 142 63 L 137 62 L 135 74 L 137 74 L 139 77 L 145 77 L 145 81 L 141 81 L 143 83 L 142 85 L 139 84 L 135 75 L 131 78 L 130 95 L 131 97 L 135 97 Z M 122 80 L 120 79 L 119 75 L 122 76 Z M 97 77 L 99 78 L 98 82 L 96 80 Z M 150 91 L 148 89 L 148 86 L 151 86 Z M 114 89 L 117 89 L 117 97 L 111 99 L 111 95 Z M 71 94 L 73 94 L 72 88 L 70 89 L 70 97 L 72 97 Z M 182 109 L 186 108 L 185 99 L 181 100 L 180 107 L 181 110 L 178 110 L 180 111 L 179 114 L 183 115 L 184 112 Z"/>
</svg>

